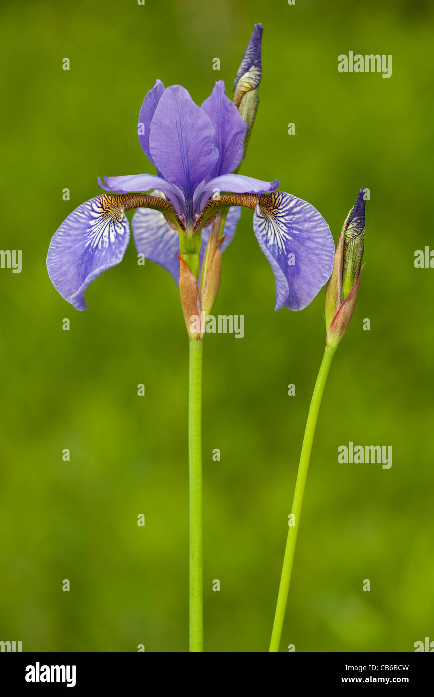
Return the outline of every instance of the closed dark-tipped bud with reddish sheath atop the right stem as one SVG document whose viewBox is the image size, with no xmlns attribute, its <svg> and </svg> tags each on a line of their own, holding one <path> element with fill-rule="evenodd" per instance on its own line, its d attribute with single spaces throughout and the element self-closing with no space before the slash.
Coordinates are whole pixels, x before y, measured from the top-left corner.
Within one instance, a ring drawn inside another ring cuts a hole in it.
<svg viewBox="0 0 434 697">
<path fill-rule="evenodd" d="M 332 275 L 325 293 L 325 325 L 327 346 L 336 348 L 348 329 L 359 292 L 364 252 L 365 204 L 364 187 L 343 224 L 334 253 Z"/>
</svg>

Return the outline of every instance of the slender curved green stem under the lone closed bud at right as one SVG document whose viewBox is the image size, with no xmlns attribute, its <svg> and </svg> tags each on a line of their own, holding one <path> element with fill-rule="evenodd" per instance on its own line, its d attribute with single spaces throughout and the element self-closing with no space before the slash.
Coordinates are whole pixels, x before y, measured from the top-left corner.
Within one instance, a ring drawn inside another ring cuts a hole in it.
<svg viewBox="0 0 434 697">
<path fill-rule="evenodd" d="M 279 594 L 277 595 L 276 613 L 274 615 L 270 651 L 279 651 L 282 627 L 284 626 L 286 602 L 288 601 L 290 576 L 293 569 L 295 543 L 297 542 L 297 533 L 300 526 L 304 487 L 307 480 L 307 470 L 309 469 L 309 460 L 311 457 L 313 436 L 315 435 L 316 420 L 318 419 L 318 412 L 320 411 L 320 404 L 323 397 L 325 383 L 327 381 L 327 375 L 329 374 L 330 365 L 332 365 L 332 359 L 335 351 L 336 348 L 330 348 L 330 346 L 325 347 L 323 360 L 321 361 L 318 376 L 316 378 L 315 388 L 313 388 L 313 395 L 311 404 L 309 406 L 309 414 L 307 415 L 302 452 L 300 454 L 300 464 L 297 472 L 297 482 L 295 482 L 293 508 L 291 510 L 292 516 L 290 519 L 291 525 L 288 526 L 288 538 L 286 539 L 284 565 L 281 572 Z"/>
</svg>

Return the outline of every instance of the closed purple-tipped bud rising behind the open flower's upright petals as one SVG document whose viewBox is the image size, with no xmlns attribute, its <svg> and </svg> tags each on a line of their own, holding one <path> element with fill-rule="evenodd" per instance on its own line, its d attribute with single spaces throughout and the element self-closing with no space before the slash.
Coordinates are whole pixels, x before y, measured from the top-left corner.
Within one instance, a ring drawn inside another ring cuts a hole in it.
<svg viewBox="0 0 434 697">
<path fill-rule="evenodd" d="M 261 38 L 262 24 L 255 24 L 249 43 L 233 81 L 233 103 L 238 108 L 240 116 L 247 123 L 244 139 L 244 155 L 247 149 L 251 128 L 258 108 L 258 86 L 261 82 Z M 241 163 L 240 163 L 241 164 Z M 238 165 L 239 167 L 240 165 Z"/>
</svg>

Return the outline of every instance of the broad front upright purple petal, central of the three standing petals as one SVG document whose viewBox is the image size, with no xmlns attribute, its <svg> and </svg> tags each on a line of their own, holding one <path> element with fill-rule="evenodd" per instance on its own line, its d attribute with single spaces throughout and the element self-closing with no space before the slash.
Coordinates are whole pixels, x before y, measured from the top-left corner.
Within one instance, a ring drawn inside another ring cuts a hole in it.
<svg viewBox="0 0 434 697">
<path fill-rule="evenodd" d="M 211 119 L 180 85 L 168 87 L 158 102 L 149 144 L 157 170 L 186 197 L 192 197 L 219 156 Z"/>
</svg>

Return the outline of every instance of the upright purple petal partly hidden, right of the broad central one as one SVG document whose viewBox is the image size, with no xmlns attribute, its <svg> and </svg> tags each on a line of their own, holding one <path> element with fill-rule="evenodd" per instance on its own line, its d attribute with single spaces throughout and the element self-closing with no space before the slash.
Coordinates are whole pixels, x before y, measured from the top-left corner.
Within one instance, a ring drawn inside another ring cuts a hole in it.
<svg viewBox="0 0 434 697">
<path fill-rule="evenodd" d="M 209 178 L 232 172 L 242 158 L 242 141 L 246 135 L 247 125 L 242 120 L 238 109 L 224 94 L 224 82 L 219 80 L 208 99 L 201 107 L 208 114 L 216 133 L 215 144 L 219 157 Z"/>
</svg>

